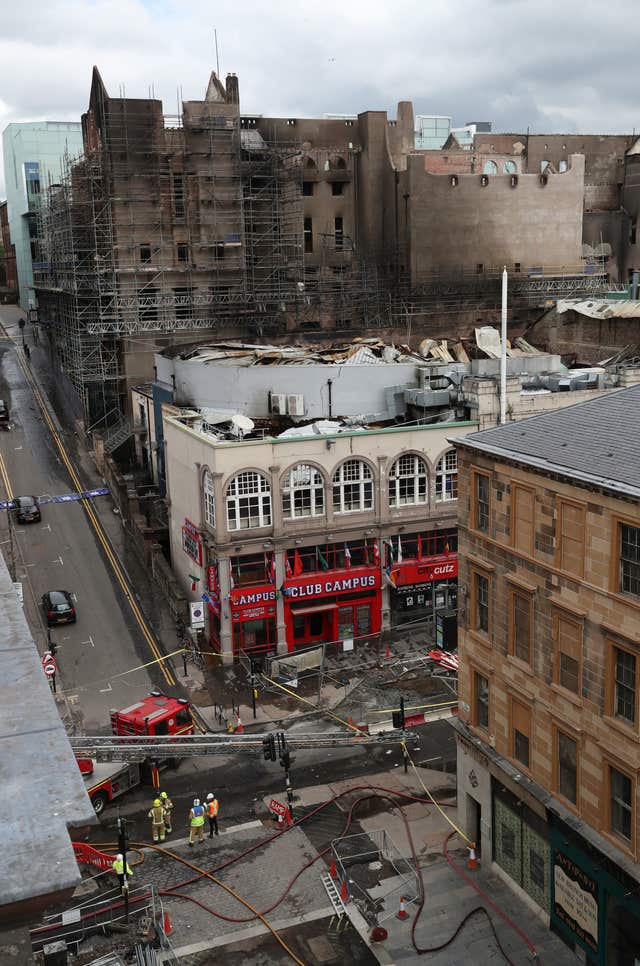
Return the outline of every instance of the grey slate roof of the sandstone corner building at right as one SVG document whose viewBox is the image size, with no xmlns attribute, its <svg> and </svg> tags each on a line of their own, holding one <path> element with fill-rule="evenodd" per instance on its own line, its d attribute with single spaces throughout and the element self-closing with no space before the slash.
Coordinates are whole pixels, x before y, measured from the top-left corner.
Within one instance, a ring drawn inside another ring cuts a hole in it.
<svg viewBox="0 0 640 966">
<path fill-rule="evenodd" d="M 640 385 L 455 443 L 640 497 Z"/>
</svg>

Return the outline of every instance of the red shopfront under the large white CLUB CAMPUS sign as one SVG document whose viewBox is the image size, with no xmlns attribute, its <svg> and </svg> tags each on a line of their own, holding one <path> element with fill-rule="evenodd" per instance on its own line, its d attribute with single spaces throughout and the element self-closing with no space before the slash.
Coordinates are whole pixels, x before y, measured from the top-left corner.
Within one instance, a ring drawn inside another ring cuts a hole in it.
<svg viewBox="0 0 640 966">
<path fill-rule="evenodd" d="M 379 567 L 351 567 L 289 577 L 283 586 L 287 647 L 354 645 L 380 632 Z"/>
</svg>

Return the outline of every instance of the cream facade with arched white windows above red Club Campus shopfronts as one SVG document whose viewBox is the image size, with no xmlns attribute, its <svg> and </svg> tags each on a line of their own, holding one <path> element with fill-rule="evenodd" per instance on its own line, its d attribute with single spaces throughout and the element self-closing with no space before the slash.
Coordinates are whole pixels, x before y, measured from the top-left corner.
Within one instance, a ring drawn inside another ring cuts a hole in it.
<svg viewBox="0 0 640 966">
<path fill-rule="evenodd" d="M 453 614 L 457 466 L 472 423 L 216 439 L 164 416 L 172 566 L 241 650 L 349 649 Z"/>
</svg>

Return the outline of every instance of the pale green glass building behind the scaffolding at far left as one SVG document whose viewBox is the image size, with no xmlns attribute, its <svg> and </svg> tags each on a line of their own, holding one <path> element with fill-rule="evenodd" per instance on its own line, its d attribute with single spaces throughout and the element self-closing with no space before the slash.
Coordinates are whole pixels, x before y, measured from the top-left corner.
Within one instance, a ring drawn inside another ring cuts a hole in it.
<svg viewBox="0 0 640 966">
<path fill-rule="evenodd" d="M 8 124 L 2 132 L 7 215 L 15 247 L 20 305 L 36 307 L 33 265 L 41 261 L 37 214 L 48 184 L 60 181 L 65 155 L 82 154 L 82 128 L 74 121 Z"/>
</svg>

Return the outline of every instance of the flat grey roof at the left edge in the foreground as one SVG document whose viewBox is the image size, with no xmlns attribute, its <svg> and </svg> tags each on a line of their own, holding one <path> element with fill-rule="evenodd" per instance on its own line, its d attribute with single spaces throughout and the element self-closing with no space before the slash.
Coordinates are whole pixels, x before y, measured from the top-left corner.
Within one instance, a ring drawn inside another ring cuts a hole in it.
<svg viewBox="0 0 640 966">
<path fill-rule="evenodd" d="M 1 555 L 0 615 L 1 918 L 78 884 L 68 830 L 97 820 Z"/>
</svg>

